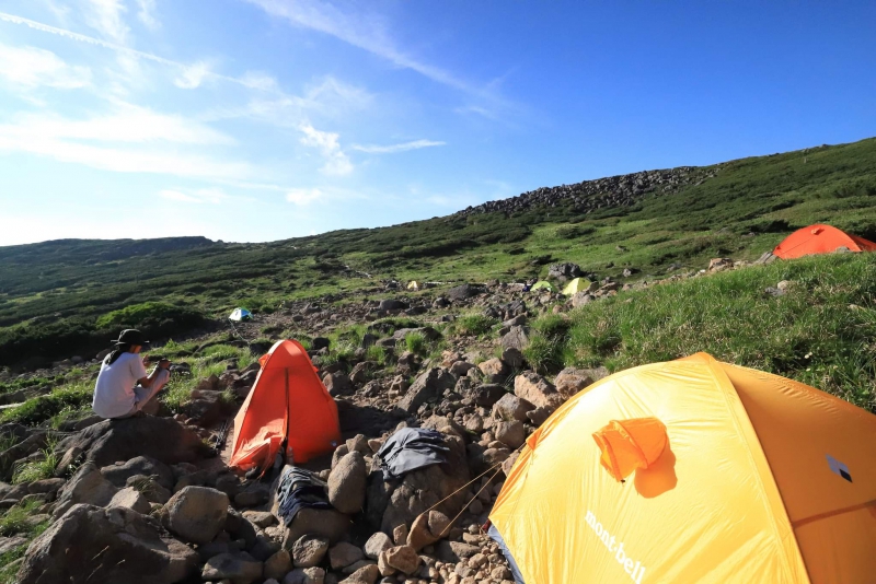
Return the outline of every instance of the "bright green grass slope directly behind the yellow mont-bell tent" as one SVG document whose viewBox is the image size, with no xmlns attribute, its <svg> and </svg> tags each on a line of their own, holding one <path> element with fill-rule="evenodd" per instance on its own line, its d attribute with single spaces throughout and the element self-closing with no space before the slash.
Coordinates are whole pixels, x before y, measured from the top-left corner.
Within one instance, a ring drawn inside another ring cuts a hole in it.
<svg viewBox="0 0 876 584">
<path fill-rule="evenodd" d="M 788 293 L 764 293 L 781 280 L 794 282 Z M 557 330 L 550 318 L 535 326 Z M 550 351 L 530 347 L 527 358 L 553 371 L 620 371 L 705 351 L 876 412 L 876 254 L 776 261 L 620 293 L 573 311 L 567 332 L 553 339 Z"/>
</svg>

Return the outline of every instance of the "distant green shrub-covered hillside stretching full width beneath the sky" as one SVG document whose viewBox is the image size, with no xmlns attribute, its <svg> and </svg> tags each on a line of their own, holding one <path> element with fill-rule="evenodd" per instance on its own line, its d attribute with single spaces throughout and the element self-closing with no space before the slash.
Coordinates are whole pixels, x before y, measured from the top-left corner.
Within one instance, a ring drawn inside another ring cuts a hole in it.
<svg viewBox="0 0 876 584">
<path fill-rule="evenodd" d="M 589 213 L 566 201 L 269 244 L 192 237 L 3 247 L 0 366 L 102 347 L 122 325 L 174 335 L 235 305 L 272 312 L 383 278 L 520 280 L 568 260 L 599 277 L 623 280 L 629 267 L 639 270 L 632 279 L 652 279 L 670 266 L 701 268 L 710 257 L 754 258 L 817 221 L 876 238 L 876 139 L 714 170 L 676 192 Z M 149 302 L 164 304 L 139 306 Z"/>
</svg>

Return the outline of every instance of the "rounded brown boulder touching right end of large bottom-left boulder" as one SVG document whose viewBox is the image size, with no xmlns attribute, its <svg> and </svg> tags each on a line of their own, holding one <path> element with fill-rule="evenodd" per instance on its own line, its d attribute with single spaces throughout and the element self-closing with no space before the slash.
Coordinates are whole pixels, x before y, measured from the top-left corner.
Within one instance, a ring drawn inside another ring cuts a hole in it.
<svg viewBox="0 0 876 584">
<path fill-rule="evenodd" d="M 222 530 L 228 516 L 228 495 L 208 487 L 186 487 L 164 505 L 166 526 L 193 544 L 207 544 Z"/>
</svg>

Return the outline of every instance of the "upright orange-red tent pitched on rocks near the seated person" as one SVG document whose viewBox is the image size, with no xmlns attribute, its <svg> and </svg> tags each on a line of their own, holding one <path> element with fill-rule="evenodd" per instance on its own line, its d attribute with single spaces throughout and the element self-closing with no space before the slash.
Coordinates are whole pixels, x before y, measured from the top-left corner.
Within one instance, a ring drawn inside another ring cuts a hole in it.
<svg viewBox="0 0 876 584">
<path fill-rule="evenodd" d="M 304 348 L 293 340 L 277 341 L 260 362 L 262 371 L 234 418 L 229 466 L 267 468 L 286 437 L 286 456 L 296 463 L 337 446 L 337 406 Z"/>
</svg>

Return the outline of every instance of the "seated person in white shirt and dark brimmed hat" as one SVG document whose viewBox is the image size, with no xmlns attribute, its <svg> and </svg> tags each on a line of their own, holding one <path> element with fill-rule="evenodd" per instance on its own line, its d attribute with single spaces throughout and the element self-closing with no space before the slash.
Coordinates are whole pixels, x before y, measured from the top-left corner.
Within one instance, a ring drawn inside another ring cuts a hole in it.
<svg viewBox="0 0 876 584">
<path fill-rule="evenodd" d="M 147 374 L 139 353 L 148 344 L 136 328 L 122 331 L 101 364 L 91 404 L 94 413 L 107 419 L 130 418 L 164 387 L 171 376 L 170 363 L 162 360 Z"/>
</svg>

